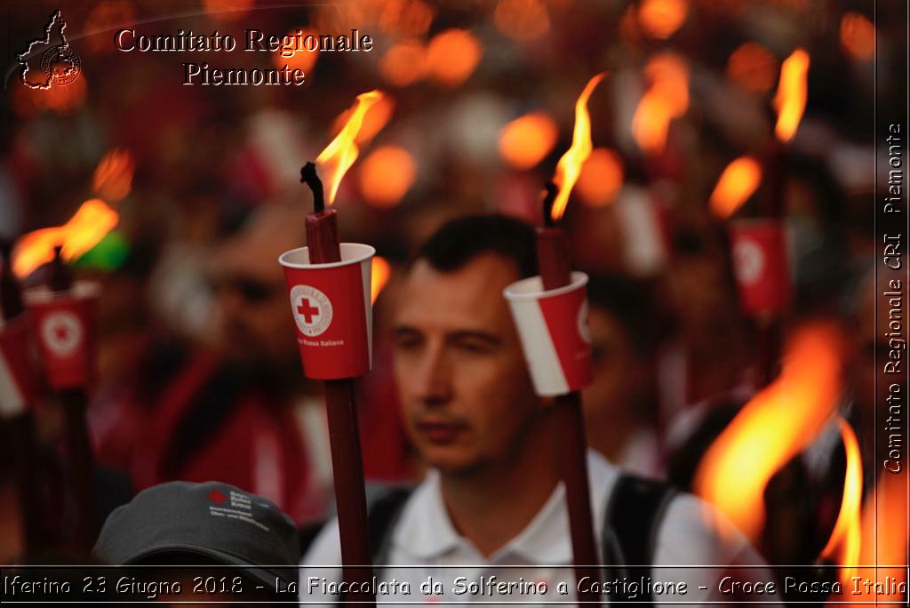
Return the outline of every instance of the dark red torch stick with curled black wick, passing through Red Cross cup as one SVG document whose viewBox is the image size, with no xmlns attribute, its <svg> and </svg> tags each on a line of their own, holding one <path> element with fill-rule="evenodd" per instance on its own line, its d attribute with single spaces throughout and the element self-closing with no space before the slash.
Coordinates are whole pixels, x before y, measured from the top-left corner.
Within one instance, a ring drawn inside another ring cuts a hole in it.
<svg viewBox="0 0 910 608">
<path fill-rule="evenodd" d="M 313 264 L 339 262 L 338 213 L 325 208 L 316 165 L 307 163 L 300 171 L 300 181 L 313 191 L 313 213 L 307 214 L 306 218 L 309 261 Z M 325 390 L 344 580 L 349 588 L 369 589 L 373 568 L 354 379 L 325 380 Z M 376 598 L 372 593 L 361 591 L 348 593 L 345 599 L 369 604 L 375 603 Z"/>
</svg>

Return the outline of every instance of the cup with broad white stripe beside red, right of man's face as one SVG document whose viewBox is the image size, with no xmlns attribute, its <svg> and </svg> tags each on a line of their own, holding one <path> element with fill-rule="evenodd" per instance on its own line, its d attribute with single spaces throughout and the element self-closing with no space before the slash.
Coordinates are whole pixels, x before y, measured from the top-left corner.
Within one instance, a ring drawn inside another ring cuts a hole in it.
<svg viewBox="0 0 910 608">
<path fill-rule="evenodd" d="M 588 329 L 588 275 L 573 272 L 571 283 L 544 291 L 540 277 L 512 283 L 509 300 L 534 390 L 541 397 L 562 395 L 591 384 Z"/>
</svg>

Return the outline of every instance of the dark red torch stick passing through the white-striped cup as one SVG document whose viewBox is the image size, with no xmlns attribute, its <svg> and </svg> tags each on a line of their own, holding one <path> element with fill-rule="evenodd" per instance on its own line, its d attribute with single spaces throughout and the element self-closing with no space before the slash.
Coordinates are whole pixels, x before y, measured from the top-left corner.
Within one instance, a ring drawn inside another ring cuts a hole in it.
<svg viewBox="0 0 910 608">
<path fill-rule="evenodd" d="M 552 221 L 551 208 L 556 197 L 556 186 L 547 184 L 546 190 L 547 195 L 543 200 L 544 227 L 537 230 L 537 263 L 543 289 L 550 290 L 571 283 L 571 257 L 565 231 Z M 569 510 L 575 578 L 578 582 L 585 576 L 591 577 L 589 580 L 598 580 L 598 564 L 601 561 L 594 542 L 591 490 L 588 486 L 588 441 L 581 414 L 581 393 L 573 390 L 559 395 L 553 407 L 560 472 Z M 600 599 L 597 593 L 579 590 L 579 602 L 598 602 Z"/>
</svg>

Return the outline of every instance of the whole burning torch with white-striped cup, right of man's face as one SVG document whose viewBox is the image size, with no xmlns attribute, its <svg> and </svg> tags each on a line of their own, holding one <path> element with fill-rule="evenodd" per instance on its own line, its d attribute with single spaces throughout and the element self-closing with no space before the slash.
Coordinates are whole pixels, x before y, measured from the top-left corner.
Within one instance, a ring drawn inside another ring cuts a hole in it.
<svg viewBox="0 0 910 608">
<path fill-rule="evenodd" d="M 531 370 L 534 389 L 554 397 L 554 426 L 558 438 L 562 481 L 569 511 L 576 578 L 596 576 L 600 559 L 591 523 L 587 441 L 581 415 L 581 389 L 591 383 L 591 341 L 587 329 L 588 277 L 571 271 L 569 242 L 556 225 L 569 202 L 571 188 L 591 154 L 588 99 L 604 74 L 593 76 L 575 104 L 571 147 L 560 158 L 556 176 L 543 199 L 544 228 L 537 231 L 541 275 L 505 289 L 521 346 Z M 580 602 L 596 602 L 596 593 L 579 593 Z"/>
</svg>

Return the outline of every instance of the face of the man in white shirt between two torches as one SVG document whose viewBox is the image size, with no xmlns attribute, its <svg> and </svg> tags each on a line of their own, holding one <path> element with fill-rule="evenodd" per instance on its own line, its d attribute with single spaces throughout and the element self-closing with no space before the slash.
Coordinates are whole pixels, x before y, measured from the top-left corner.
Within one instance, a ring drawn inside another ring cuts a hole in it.
<svg viewBox="0 0 910 608">
<path fill-rule="evenodd" d="M 541 404 L 502 289 L 515 265 L 482 254 L 440 272 L 420 260 L 402 289 L 395 374 L 411 440 L 430 466 L 458 475 L 508 465 Z"/>
</svg>

